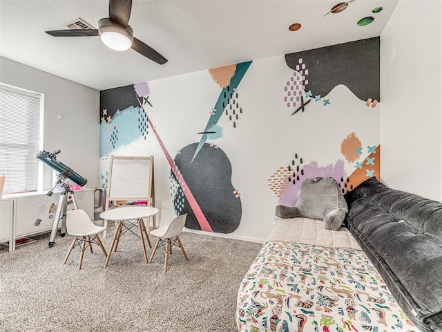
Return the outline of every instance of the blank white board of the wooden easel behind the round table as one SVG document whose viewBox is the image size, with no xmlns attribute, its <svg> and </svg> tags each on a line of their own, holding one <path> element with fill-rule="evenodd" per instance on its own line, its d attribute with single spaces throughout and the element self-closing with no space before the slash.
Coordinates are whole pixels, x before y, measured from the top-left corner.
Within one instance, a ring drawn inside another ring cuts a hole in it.
<svg viewBox="0 0 442 332">
<path fill-rule="evenodd" d="M 151 199 L 153 156 L 111 156 L 109 164 L 108 201 Z"/>
</svg>

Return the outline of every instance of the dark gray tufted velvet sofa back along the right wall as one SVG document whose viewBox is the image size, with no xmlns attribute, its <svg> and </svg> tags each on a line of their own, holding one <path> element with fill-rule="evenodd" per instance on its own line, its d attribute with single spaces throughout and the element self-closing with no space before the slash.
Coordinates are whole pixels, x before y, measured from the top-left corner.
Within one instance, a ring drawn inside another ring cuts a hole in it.
<svg viewBox="0 0 442 332">
<path fill-rule="evenodd" d="M 345 224 L 421 331 L 442 332 L 442 203 L 369 178 L 345 194 Z"/>
</svg>

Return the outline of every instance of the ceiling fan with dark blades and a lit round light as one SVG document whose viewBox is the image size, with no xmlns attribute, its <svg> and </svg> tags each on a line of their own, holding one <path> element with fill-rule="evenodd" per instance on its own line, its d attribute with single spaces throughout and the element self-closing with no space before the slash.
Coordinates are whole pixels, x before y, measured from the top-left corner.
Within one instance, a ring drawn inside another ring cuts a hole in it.
<svg viewBox="0 0 442 332">
<path fill-rule="evenodd" d="M 45 31 L 54 37 L 99 36 L 102 42 L 113 50 L 132 48 L 157 64 L 165 64 L 167 59 L 156 50 L 133 37 L 128 25 L 131 17 L 132 0 L 109 0 L 109 17 L 98 21 L 98 29 L 73 29 Z"/>
</svg>

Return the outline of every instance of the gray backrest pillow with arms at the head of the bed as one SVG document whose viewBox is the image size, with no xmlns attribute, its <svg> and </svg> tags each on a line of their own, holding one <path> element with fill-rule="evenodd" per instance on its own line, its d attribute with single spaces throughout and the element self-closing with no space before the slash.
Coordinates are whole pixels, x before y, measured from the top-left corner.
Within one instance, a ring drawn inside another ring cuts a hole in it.
<svg viewBox="0 0 442 332">
<path fill-rule="evenodd" d="M 280 218 L 305 216 L 323 219 L 327 230 L 338 230 L 347 212 L 347 203 L 338 183 L 332 177 L 307 178 L 301 183 L 298 201 L 294 207 L 276 207 L 276 216 Z"/>
</svg>

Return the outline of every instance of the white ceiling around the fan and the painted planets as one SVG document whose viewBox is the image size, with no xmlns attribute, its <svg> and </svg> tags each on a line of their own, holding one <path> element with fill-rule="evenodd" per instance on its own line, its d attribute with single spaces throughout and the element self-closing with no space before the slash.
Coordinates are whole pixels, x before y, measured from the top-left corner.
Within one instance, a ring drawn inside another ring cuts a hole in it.
<svg viewBox="0 0 442 332">
<path fill-rule="evenodd" d="M 97 28 L 108 0 L 0 0 L 0 55 L 97 90 L 380 36 L 398 0 L 133 0 L 134 36 L 164 55 L 156 64 L 99 37 L 51 37 L 81 17 Z M 350 2 L 350 1 L 349 1 Z M 372 14 L 382 6 L 383 10 Z M 367 16 L 368 26 L 356 22 Z M 290 24 L 300 23 L 298 31 Z M 1 77 L 0 77 L 1 80 Z"/>
</svg>

